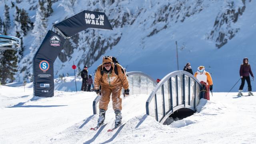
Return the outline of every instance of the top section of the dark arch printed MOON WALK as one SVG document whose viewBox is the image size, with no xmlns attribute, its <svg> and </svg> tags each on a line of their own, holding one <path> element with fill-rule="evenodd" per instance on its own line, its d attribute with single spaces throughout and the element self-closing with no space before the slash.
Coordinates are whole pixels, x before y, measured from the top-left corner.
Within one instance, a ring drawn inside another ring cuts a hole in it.
<svg viewBox="0 0 256 144">
<path fill-rule="evenodd" d="M 86 28 L 112 30 L 112 26 L 104 12 L 88 10 L 84 10 L 54 26 L 61 30 L 66 36 L 73 36 Z"/>
</svg>

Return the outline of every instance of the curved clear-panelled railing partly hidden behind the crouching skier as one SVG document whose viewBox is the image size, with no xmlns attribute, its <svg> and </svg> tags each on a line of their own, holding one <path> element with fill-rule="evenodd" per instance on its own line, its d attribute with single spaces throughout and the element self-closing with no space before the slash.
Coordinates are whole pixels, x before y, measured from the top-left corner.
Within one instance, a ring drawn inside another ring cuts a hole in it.
<svg viewBox="0 0 256 144">
<path fill-rule="evenodd" d="M 157 85 L 157 82 L 153 78 L 143 72 L 127 72 L 126 75 L 128 76 L 130 95 L 150 94 Z M 93 114 L 98 113 L 97 107 L 100 97 L 101 96 L 96 96 L 92 103 Z"/>
</svg>

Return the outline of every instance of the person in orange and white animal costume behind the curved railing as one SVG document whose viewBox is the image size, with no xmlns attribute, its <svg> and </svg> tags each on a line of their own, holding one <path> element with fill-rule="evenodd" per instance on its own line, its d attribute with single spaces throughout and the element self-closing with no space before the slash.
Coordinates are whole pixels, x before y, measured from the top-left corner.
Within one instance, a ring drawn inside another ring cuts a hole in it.
<svg viewBox="0 0 256 144">
<path fill-rule="evenodd" d="M 195 73 L 195 77 L 199 80 L 199 82 L 203 85 L 204 87 L 204 98 L 207 100 L 210 100 L 210 91 L 212 90 L 212 77 L 209 74 L 209 72 L 206 72 L 204 70 L 204 66 L 199 66 L 197 68 L 197 72 Z"/>
</svg>

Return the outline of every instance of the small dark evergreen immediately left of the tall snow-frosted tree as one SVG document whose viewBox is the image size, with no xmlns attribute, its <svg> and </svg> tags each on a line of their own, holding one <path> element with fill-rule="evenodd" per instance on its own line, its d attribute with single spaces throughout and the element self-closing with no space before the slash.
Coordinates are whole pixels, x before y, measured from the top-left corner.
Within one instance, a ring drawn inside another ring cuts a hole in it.
<svg viewBox="0 0 256 144">
<path fill-rule="evenodd" d="M 20 19 L 21 29 L 24 33 L 24 36 L 26 36 L 28 31 L 33 29 L 33 22 L 31 22 L 31 20 L 28 16 L 28 13 L 23 8 L 22 8 L 22 10 L 20 10 L 20 18 L 19 19 Z"/>
</svg>

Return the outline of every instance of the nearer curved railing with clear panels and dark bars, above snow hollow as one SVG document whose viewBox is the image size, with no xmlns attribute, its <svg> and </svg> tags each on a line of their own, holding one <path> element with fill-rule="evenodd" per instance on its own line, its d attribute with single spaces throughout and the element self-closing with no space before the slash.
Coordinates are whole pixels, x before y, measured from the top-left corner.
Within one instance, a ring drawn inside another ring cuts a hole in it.
<svg viewBox="0 0 256 144">
<path fill-rule="evenodd" d="M 202 85 L 192 74 L 186 71 L 171 72 L 157 84 L 148 97 L 146 114 L 164 123 L 180 108 L 196 111 L 195 108 L 202 98 L 201 90 Z"/>
</svg>

